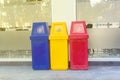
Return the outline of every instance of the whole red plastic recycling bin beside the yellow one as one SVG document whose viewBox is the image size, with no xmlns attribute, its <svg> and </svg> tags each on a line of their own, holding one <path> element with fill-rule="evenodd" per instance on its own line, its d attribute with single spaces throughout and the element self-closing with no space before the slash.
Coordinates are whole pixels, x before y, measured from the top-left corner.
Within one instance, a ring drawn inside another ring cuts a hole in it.
<svg viewBox="0 0 120 80">
<path fill-rule="evenodd" d="M 85 21 L 72 22 L 69 42 L 70 69 L 88 69 L 88 34 Z"/>
</svg>

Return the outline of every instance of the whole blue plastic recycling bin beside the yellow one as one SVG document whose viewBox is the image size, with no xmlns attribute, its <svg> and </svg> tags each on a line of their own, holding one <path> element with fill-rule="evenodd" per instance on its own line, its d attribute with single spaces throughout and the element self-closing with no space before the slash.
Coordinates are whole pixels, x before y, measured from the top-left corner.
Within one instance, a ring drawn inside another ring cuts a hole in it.
<svg viewBox="0 0 120 80">
<path fill-rule="evenodd" d="M 49 69 L 49 41 L 46 22 L 33 23 L 30 36 L 32 48 L 32 68 L 34 70 Z"/>
</svg>

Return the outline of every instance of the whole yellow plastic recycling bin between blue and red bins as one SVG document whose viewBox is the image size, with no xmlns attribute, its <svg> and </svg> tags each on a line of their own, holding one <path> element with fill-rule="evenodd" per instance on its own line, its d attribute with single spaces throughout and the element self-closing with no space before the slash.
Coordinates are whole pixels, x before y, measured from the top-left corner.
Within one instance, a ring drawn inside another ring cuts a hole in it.
<svg viewBox="0 0 120 80">
<path fill-rule="evenodd" d="M 50 31 L 50 65 L 52 70 L 68 69 L 68 34 L 65 22 L 52 23 Z"/>
</svg>

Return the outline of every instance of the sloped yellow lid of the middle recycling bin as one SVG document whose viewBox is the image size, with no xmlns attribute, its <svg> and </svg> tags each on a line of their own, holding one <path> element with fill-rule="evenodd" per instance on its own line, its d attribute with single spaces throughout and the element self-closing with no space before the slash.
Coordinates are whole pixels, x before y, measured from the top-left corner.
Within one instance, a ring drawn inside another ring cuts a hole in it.
<svg viewBox="0 0 120 80">
<path fill-rule="evenodd" d="M 49 39 L 68 39 L 66 23 L 53 22 L 50 30 Z"/>
</svg>

